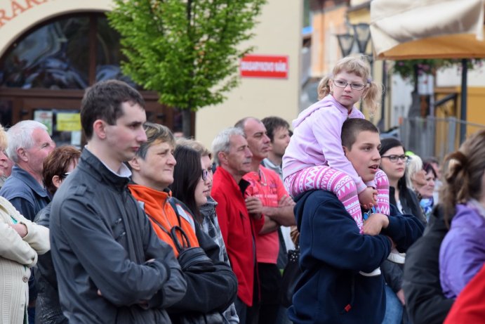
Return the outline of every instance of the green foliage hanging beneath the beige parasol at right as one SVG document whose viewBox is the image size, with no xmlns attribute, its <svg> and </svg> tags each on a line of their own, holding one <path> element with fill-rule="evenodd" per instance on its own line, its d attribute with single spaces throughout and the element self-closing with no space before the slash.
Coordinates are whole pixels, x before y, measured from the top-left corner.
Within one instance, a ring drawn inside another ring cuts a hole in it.
<svg viewBox="0 0 485 324">
<path fill-rule="evenodd" d="M 481 67 L 482 61 L 477 58 L 470 58 L 467 66 L 470 70 Z M 421 74 L 435 74 L 441 67 L 457 66 L 461 68 L 460 59 L 418 59 L 418 60 L 397 60 L 394 64 L 394 73 L 399 74 L 403 79 L 411 78 L 416 84 L 416 77 Z"/>
</svg>

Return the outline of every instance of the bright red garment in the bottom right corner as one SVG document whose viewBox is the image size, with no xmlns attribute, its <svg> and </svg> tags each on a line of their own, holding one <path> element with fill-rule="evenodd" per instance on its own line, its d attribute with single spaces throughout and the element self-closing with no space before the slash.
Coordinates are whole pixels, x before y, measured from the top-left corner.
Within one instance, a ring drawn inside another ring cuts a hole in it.
<svg viewBox="0 0 485 324">
<path fill-rule="evenodd" d="M 444 324 L 485 323 L 485 266 L 458 294 Z"/>
</svg>

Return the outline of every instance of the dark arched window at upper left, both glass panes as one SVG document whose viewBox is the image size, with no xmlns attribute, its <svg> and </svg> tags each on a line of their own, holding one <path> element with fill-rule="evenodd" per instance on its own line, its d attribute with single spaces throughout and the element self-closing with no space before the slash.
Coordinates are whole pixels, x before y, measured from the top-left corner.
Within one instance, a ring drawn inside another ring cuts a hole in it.
<svg viewBox="0 0 485 324">
<path fill-rule="evenodd" d="M 90 41 L 90 28 L 94 27 L 95 40 Z M 35 27 L 4 56 L 0 63 L 0 85 L 22 89 L 86 89 L 89 67 L 95 66 L 95 82 L 119 79 L 141 90 L 141 86 L 121 72 L 124 56 L 119 38 L 105 15 L 100 14 L 58 18 Z M 96 56 L 91 62 L 89 46 L 93 41 Z"/>
</svg>

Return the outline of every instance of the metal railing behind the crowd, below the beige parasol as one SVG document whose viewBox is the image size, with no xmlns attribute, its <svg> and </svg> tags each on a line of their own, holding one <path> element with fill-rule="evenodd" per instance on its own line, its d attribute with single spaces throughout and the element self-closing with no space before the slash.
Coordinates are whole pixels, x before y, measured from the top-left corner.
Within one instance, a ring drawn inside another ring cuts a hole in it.
<svg viewBox="0 0 485 324">
<path fill-rule="evenodd" d="M 485 125 L 463 122 L 456 117 L 409 117 L 399 127 L 399 137 L 406 150 L 423 158 L 438 157 L 442 160 L 458 149 L 462 130 L 470 136 L 481 129 L 485 129 Z"/>
</svg>

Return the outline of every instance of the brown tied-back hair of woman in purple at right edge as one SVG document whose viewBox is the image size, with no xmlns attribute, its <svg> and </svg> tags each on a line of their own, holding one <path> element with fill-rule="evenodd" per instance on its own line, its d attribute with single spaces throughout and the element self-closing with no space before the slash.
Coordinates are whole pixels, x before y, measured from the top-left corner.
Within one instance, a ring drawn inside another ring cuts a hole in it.
<svg viewBox="0 0 485 324">
<path fill-rule="evenodd" d="M 468 138 L 460 148 L 445 158 L 443 186 L 439 201 L 444 205 L 446 225 L 455 214 L 457 204 L 470 199 L 479 200 L 484 188 L 481 179 L 485 172 L 485 131 Z"/>
</svg>

